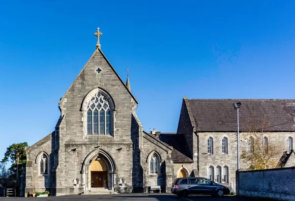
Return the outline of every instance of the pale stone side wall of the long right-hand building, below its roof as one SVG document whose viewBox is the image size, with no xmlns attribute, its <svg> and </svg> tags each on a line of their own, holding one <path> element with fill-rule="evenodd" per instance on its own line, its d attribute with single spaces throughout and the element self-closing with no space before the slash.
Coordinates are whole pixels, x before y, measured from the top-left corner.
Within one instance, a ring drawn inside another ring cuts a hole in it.
<svg viewBox="0 0 295 201">
<path fill-rule="evenodd" d="M 229 183 L 230 185 L 236 181 L 236 169 L 237 169 L 237 142 L 236 142 L 236 132 L 206 132 L 198 133 L 200 140 L 200 176 L 207 177 L 207 169 L 209 166 L 215 168 L 220 166 L 228 166 L 229 168 Z M 282 146 L 282 152 L 276 157 L 276 161 L 279 161 L 280 157 L 283 155 L 283 151 L 287 150 L 287 138 L 295 137 L 294 132 L 268 132 L 265 134 L 268 138 L 268 143 L 276 144 L 277 146 Z M 248 139 L 250 136 L 254 136 L 253 133 L 242 132 L 240 133 L 240 154 L 243 150 L 248 150 Z M 209 137 L 213 138 L 213 154 L 207 154 L 207 139 Z M 222 138 L 228 138 L 228 153 L 222 153 Z M 195 144 L 197 146 L 197 144 Z M 196 161 L 195 161 L 196 163 Z M 246 170 L 249 167 L 245 161 L 240 160 L 240 169 Z"/>
</svg>

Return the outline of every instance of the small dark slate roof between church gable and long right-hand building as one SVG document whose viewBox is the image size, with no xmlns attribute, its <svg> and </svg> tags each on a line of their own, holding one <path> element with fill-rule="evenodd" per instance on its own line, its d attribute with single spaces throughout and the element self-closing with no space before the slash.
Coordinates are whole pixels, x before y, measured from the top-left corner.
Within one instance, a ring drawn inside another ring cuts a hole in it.
<svg viewBox="0 0 295 201">
<path fill-rule="evenodd" d="M 173 147 L 171 157 L 174 163 L 193 163 L 190 159 L 188 148 L 183 135 L 176 133 L 161 133 L 159 135 L 160 141 Z"/>
</svg>

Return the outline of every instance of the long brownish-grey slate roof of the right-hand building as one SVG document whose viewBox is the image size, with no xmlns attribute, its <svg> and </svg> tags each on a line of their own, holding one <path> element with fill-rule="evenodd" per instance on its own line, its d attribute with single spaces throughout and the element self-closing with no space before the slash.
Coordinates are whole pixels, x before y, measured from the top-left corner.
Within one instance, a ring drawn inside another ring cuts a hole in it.
<svg viewBox="0 0 295 201">
<path fill-rule="evenodd" d="M 236 131 L 236 110 L 241 102 L 239 129 L 248 131 L 247 120 L 266 117 L 265 131 L 295 131 L 295 99 L 183 99 L 196 131 Z"/>
</svg>

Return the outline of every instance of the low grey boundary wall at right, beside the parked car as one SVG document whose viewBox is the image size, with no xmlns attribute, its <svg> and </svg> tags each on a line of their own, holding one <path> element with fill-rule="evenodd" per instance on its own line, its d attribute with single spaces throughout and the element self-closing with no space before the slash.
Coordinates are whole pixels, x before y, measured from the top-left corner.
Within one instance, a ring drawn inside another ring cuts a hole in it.
<svg viewBox="0 0 295 201">
<path fill-rule="evenodd" d="M 237 196 L 295 201 L 295 167 L 236 172 Z"/>
</svg>

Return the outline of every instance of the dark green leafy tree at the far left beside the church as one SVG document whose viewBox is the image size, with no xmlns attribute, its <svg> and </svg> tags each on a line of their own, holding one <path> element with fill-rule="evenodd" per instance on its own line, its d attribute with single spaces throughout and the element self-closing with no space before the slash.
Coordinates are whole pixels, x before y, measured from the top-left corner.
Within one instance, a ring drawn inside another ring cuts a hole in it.
<svg viewBox="0 0 295 201">
<path fill-rule="evenodd" d="M 9 168 L 12 175 L 16 176 L 16 183 L 20 185 L 20 172 L 22 172 L 22 167 L 26 163 L 26 147 L 28 143 L 18 143 L 11 144 L 7 147 L 6 152 L 4 153 L 4 158 L 1 163 L 6 163 L 8 160 L 11 161 L 12 165 Z"/>
</svg>

